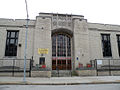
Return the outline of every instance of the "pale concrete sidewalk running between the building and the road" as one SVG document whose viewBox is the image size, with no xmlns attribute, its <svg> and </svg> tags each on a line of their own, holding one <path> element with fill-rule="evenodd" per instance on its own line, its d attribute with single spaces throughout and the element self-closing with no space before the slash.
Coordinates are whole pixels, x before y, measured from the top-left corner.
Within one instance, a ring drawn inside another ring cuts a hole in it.
<svg viewBox="0 0 120 90">
<path fill-rule="evenodd" d="M 120 76 L 91 76 L 91 77 L 0 77 L 0 85 L 77 85 L 77 84 L 111 84 L 120 83 Z"/>
</svg>

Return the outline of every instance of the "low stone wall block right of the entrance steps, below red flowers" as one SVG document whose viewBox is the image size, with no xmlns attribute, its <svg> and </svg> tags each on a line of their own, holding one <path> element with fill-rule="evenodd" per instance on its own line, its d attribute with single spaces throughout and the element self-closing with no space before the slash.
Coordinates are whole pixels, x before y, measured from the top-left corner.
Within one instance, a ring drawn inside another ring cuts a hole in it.
<svg viewBox="0 0 120 90">
<path fill-rule="evenodd" d="M 96 76 L 96 70 L 76 70 L 78 76 Z"/>
</svg>

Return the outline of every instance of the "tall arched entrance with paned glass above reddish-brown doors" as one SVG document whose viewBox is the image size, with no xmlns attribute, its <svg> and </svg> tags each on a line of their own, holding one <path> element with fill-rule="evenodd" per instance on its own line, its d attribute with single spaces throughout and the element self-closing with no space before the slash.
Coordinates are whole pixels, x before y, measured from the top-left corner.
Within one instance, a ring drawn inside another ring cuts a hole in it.
<svg viewBox="0 0 120 90">
<path fill-rule="evenodd" d="M 52 35 L 52 70 L 71 70 L 71 36 L 65 33 Z"/>
</svg>

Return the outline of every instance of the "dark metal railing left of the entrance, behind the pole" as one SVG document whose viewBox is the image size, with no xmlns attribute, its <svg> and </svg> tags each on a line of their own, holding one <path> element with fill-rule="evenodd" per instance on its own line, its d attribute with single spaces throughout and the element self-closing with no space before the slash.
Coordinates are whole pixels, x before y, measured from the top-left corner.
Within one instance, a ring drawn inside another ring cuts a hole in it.
<svg viewBox="0 0 120 90">
<path fill-rule="evenodd" d="M 31 77 L 32 59 L 26 59 L 26 72 Z M 16 72 L 24 72 L 24 59 L 0 59 L 0 73 L 11 72 L 12 76 Z"/>
</svg>

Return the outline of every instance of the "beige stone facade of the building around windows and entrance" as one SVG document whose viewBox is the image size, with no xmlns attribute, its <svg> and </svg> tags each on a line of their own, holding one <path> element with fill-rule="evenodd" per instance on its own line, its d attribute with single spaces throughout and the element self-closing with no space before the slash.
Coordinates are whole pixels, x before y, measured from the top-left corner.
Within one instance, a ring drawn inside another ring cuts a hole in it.
<svg viewBox="0 0 120 90">
<path fill-rule="evenodd" d="M 26 20 L 0 19 L 0 58 L 24 58 Z M 7 30 L 18 30 L 17 56 L 5 56 Z M 120 25 L 89 23 L 84 16 L 56 13 L 40 13 L 35 20 L 29 20 L 27 58 L 33 57 L 34 66 L 40 57 L 45 57 L 45 64 L 52 70 L 52 34 L 65 32 L 71 35 L 72 70 L 79 63 L 86 66 L 90 60 L 104 59 L 101 34 L 110 34 L 112 57 L 119 59 L 117 38 Z M 38 48 L 48 49 L 48 54 L 38 54 Z M 106 58 L 106 57 L 105 57 Z"/>
</svg>

